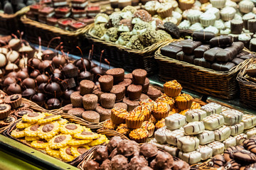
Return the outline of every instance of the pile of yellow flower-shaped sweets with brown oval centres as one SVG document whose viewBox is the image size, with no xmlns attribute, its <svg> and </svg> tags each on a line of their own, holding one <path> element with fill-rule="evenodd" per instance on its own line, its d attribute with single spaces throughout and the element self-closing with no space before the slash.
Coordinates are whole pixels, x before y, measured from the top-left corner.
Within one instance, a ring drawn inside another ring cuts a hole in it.
<svg viewBox="0 0 256 170">
<path fill-rule="evenodd" d="M 105 135 L 79 124 L 68 123 L 60 115 L 33 111 L 22 116 L 11 136 L 65 162 L 73 161 L 90 147 L 108 142 Z"/>
</svg>

